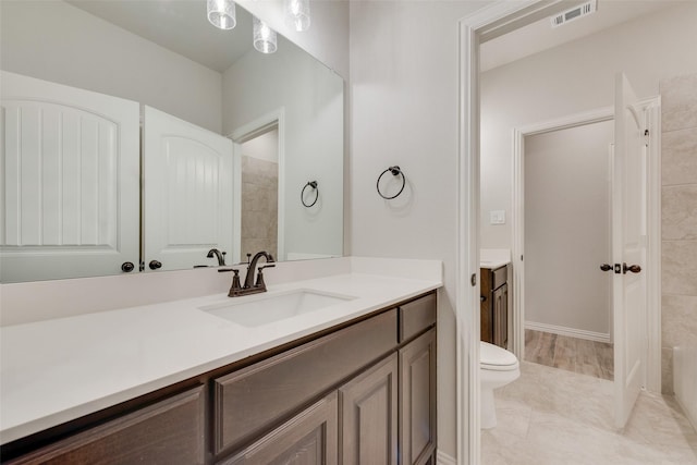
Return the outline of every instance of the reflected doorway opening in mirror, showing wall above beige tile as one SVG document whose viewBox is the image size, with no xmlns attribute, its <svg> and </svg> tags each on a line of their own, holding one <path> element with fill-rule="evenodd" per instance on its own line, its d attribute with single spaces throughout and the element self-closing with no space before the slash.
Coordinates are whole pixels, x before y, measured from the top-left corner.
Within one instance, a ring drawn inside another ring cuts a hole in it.
<svg viewBox="0 0 697 465">
<path fill-rule="evenodd" d="M 266 250 L 279 258 L 278 123 L 241 144 L 241 256 Z"/>
</svg>

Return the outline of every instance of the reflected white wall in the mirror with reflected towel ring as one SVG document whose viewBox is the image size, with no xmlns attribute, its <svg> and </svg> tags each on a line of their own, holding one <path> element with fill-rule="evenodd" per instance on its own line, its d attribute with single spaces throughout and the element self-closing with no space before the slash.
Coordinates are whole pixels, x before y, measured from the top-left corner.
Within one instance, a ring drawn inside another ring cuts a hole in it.
<svg viewBox="0 0 697 465">
<path fill-rule="evenodd" d="M 341 256 L 343 79 L 288 42 L 270 58 L 252 50 L 223 73 L 224 134 L 284 110 L 284 250 Z M 318 182 L 319 199 L 305 208 L 301 192 L 308 181 Z"/>
</svg>

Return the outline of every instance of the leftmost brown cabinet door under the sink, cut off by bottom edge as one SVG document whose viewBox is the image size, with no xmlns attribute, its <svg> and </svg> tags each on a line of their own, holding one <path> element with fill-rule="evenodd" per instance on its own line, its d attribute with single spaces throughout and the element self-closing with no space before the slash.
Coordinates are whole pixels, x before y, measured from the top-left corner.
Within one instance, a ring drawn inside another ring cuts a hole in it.
<svg viewBox="0 0 697 465">
<path fill-rule="evenodd" d="M 220 464 L 335 465 L 338 415 L 337 392 L 332 392 Z"/>
</svg>

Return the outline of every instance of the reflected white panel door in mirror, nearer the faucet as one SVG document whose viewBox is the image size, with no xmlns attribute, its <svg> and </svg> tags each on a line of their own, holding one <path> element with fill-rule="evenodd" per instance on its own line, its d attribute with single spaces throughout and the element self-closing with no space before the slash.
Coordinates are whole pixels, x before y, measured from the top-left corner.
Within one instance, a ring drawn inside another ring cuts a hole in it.
<svg viewBox="0 0 697 465">
<path fill-rule="evenodd" d="M 145 271 L 232 256 L 232 140 L 149 107 L 143 131 Z"/>
</svg>

